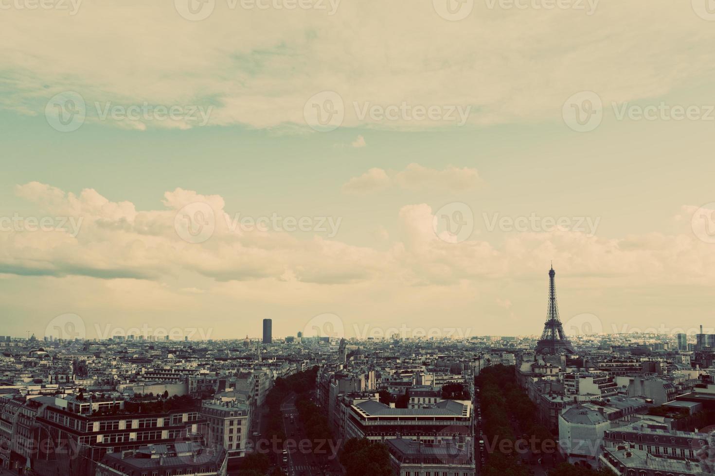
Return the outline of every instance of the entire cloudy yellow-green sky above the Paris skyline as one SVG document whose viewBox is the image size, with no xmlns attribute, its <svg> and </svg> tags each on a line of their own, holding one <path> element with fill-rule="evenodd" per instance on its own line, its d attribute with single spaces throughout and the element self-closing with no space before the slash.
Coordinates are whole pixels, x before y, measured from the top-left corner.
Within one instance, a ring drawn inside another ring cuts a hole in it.
<svg viewBox="0 0 715 476">
<path fill-rule="evenodd" d="M 0 9 L 2 335 L 715 324 L 710 0 Z"/>
</svg>

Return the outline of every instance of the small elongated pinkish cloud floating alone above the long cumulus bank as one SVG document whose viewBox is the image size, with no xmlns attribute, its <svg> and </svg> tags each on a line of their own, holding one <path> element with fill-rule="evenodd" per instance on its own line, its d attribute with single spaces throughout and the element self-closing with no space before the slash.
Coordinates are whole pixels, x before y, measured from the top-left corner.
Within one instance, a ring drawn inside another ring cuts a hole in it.
<svg viewBox="0 0 715 476">
<path fill-rule="evenodd" d="M 449 166 L 440 171 L 410 163 L 399 172 L 370 168 L 363 175 L 350 178 L 342 190 L 347 193 L 367 193 L 384 190 L 389 186 L 412 190 L 465 190 L 479 183 L 479 174 L 475 168 Z"/>
</svg>

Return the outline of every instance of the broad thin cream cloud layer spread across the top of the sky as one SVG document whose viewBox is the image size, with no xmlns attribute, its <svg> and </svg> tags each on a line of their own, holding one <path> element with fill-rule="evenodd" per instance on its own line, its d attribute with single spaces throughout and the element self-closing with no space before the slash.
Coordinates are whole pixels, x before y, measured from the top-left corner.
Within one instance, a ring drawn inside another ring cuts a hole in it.
<svg viewBox="0 0 715 476">
<path fill-rule="evenodd" d="M 714 75 L 707 60 L 715 29 L 689 2 L 652 0 L 647 11 L 636 2 L 601 2 L 591 15 L 475 2 L 461 21 L 441 18 L 432 2 L 407 0 L 342 1 L 332 15 L 230 4 L 215 2 L 203 21 L 183 19 L 172 1 L 84 2 L 74 16 L 6 9 L 4 31 L 14 41 L 0 45 L 0 105 L 41 115 L 51 96 L 69 90 L 82 94 L 89 118 L 95 103 L 146 101 L 214 106 L 212 125 L 306 128 L 305 103 L 320 85 L 342 97 L 342 126 L 443 128 L 453 122 L 360 118 L 353 104 L 472 106 L 476 125 L 556 123 L 577 91 L 596 91 L 604 103 L 633 101 L 711 83 Z M 644 15 L 634 35 L 632 21 Z M 48 43 L 34 31 L 62 41 Z M 95 41 L 87 44 L 88 37 Z M 475 48 L 492 44 L 499 48 Z M 672 58 L 689 67 L 675 67 Z M 111 71 L 103 67 L 109 62 Z M 146 126 L 192 126 L 179 122 Z"/>
</svg>

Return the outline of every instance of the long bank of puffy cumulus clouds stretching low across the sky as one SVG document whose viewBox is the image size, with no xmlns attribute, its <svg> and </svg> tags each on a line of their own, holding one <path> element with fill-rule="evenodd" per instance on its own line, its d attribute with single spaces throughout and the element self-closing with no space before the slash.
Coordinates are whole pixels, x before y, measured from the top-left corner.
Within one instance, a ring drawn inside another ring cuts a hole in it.
<svg viewBox="0 0 715 476">
<path fill-rule="evenodd" d="M 385 171 L 371 169 L 351 186 L 381 186 L 386 177 Z M 440 239 L 435 234 L 435 211 L 420 203 L 398 212 L 399 238 L 390 236 L 384 226 L 375 228 L 379 242 L 388 244 L 377 250 L 349 245 L 338 239 L 340 234 L 327 239 L 312 233 L 312 238 L 300 239 L 280 230 L 234 228 L 222 197 L 181 188 L 164 194 L 164 208 L 149 211 L 137 211 L 127 201 L 109 201 L 92 189 L 75 196 L 33 182 L 16 191 L 48 216 L 75 213 L 69 217 L 83 218 L 82 228 L 77 236 L 62 229 L 0 233 L 0 273 L 5 274 L 158 282 L 194 275 L 214 282 L 269 279 L 315 285 L 377 285 L 392 279 L 405 285 L 456 285 L 463 280 L 518 278 L 543 270 L 553 260 L 560 272 L 608 279 L 607 285 L 633 285 L 633 280 L 643 285 L 705 284 L 715 278 L 709 235 L 691 229 L 684 219 L 675 235 L 606 239 L 555 229 L 510 233 L 496 247 L 483 239 Z M 177 208 L 195 201 L 215 207 L 215 230 L 203 243 L 182 239 L 175 221 Z M 484 233 L 480 237 L 488 238 Z M 178 289 L 192 293 L 206 286 L 191 283 Z M 506 303 L 506 298 L 500 299 Z"/>
</svg>

